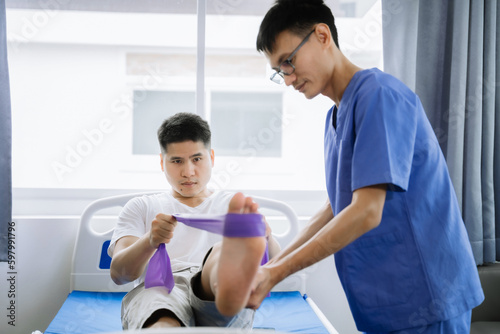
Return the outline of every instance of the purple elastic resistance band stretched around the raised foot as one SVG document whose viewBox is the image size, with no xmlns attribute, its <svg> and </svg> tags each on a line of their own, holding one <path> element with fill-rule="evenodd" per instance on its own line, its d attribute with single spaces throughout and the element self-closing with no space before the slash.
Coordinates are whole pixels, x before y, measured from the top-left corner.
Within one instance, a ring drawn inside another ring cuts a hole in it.
<svg viewBox="0 0 500 334">
<path fill-rule="evenodd" d="M 175 214 L 173 217 L 187 226 L 220 234 L 224 237 L 251 238 L 264 237 L 266 235 L 266 224 L 262 219 L 262 215 L 258 213 L 228 213 L 226 215 Z M 265 264 L 268 260 L 269 250 L 266 245 L 266 251 L 261 264 Z M 149 260 L 144 287 L 148 289 L 154 286 L 164 286 L 170 293 L 174 285 L 170 258 L 165 244 L 160 244 L 156 253 Z"/>
</svg>

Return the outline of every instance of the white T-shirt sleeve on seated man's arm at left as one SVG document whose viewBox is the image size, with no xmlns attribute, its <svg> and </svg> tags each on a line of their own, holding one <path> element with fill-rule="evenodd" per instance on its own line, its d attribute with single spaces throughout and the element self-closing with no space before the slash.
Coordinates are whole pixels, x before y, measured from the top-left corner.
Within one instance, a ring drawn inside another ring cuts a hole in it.
<svg viewBox="0 0 500 334">
<path fill-rule="evenodd" d="M 125 236 L 142 237 L 146 233 L 146 203 L 140 197 L 131 199 L 125 204 L 113 231 L 108 247 L 108 255 L 113 256 L 116 242 Z"/>
</svg>

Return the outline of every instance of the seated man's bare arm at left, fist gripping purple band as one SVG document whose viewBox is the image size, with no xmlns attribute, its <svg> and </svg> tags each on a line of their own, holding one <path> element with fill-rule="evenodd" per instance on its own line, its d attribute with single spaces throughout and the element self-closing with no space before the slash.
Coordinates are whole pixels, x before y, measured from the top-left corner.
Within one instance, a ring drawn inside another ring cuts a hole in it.
<svg viewBox="0 0 500 334">
<path fill-rule="evenodd" d="M 116 284 L 126 284 L 139 278 L 158 246 L 170 242 L 176 225 L 172 216 L 158 214 L 151 223 L 151 230 L 142 237 L 118 239 L 111 260 L 111 279 Z"/>
</svg>

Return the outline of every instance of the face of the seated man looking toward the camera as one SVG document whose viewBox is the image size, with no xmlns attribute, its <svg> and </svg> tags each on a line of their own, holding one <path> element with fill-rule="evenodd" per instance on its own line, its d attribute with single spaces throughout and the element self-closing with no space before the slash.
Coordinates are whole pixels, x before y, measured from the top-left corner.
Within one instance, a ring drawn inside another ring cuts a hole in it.
<svg viewBox="0 0 500 334">
<path fill-rule="evenodd" d="M 162 170 L 172 186 L 174 197 L 207 197 L 207 184 L 214 164 L 213 150 L 202 142 L 168 144 L 161 155 Z"/>
</svg>

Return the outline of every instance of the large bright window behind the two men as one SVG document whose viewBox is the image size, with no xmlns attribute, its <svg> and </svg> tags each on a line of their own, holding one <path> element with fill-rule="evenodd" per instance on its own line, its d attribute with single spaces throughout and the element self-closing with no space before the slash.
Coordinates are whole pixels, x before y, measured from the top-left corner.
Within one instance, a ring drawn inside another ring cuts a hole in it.
<svg viewBox="0 0 500 334">
<path fill-rule="evenodd" d="M 212 127 L 216 186 L 323 190 L 332 102 L 269 81 L 273 2 L 7 1 L 13 187 L 163 189 L 156 130 L 185 110 Z M 344 54 L 381 67 L 380 0 L 326 3 Z"/>
</svg>

